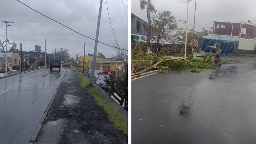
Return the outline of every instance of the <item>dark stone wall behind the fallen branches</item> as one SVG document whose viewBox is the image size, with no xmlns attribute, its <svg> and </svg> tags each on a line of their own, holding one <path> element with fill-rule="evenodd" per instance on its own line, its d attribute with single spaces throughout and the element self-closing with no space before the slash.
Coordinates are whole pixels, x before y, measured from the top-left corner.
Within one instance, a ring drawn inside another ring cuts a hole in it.
<svg viewBox="0 0 256 144">
<path fill-rule="evenodd" d="M 131 43 L 131 49 L 133 50 L 135 48 L 136 42 L 132 42 Z M 156 53 L 156 44 L 152 44 L 152 52 Z M 136 50 L 141 50 L 144 52 L 147 52 L 147 44 L 146 43 L 141 43 L 140 47 L 137 47 Z M 198 47 L 196 47 L 195 49 L 198 49 Z M 183 48 L 181 45 L 162 45 L 161 49 L 160 49 L 161 53 L 164 53 L 166 55 L 175 55 L 176 53 L 180 54 L 180 53 L 184 53 L 185 52 L 185 48 Z M 188 47 L 187 46 L 187 55 L 189 55 L 192 52 L 192 47 Z"/>
</svg>

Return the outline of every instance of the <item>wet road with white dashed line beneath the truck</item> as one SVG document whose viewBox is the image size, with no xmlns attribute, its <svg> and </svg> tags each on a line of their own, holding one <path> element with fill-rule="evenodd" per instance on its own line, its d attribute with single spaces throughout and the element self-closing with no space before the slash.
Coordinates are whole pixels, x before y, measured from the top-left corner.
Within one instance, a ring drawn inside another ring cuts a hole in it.
<svg viewBox="0 0 256 144">
<path fill-rule="evenodd" d="M 66 69 L 35 70 L 0 79 L 0 143 L 27 143 Z"/>
</svg>

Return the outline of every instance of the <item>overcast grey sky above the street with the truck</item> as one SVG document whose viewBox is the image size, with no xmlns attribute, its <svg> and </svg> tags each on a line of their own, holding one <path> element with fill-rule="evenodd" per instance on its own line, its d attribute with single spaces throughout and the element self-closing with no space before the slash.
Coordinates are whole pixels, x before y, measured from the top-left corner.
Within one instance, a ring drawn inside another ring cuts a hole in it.
<svg viewBox="0 0 256 144">
<path fill-rule="evenodd" d="M 45 14 L 52 19 L 72 28 L 73 30 L 95 39 L 96 26 L 99 14 L 100 1 L 91 0 L 20 0 L 35 10 Z M 111 30 L 107 13 L 106 0 L 103 0 L 101 12 L 101 25 L 99 41 L 113 45 L 114 35 Z M 122 0 L 126 5 L 128 0 Z M 107 0 L 111 24 L 116 39 L 121 46 L 127 49 L 127 8 L 121 0 Z M 12 26 L 7 27 L 7 39 L 10 42 L 22 43 L 24 51 L 34 50 L 35 45 L 41 46 L 44 51 L 44 40 L 46 39 L 47 53 L 55 48 L 69 50 L 70 56 L 75 57 L 77 53 L 84 50 L 86 42 L 86 55 L 93 54 L 94 41 L 80 36 L 66 27 L 32 11 L 16 0 L 1 0 L 0 20 L 14 21 Z M 0 40 L 6 39 L 6 24 L 0 22 Z M 97 52 L 107 58 L 115 55 L 115 48 L 98 43 Z"/>
</svg>

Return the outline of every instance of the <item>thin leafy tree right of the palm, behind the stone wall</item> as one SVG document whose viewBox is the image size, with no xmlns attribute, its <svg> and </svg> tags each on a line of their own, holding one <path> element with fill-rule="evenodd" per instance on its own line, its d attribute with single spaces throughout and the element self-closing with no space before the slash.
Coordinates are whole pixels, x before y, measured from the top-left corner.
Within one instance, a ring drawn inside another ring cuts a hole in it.
<svg viewBox="0 0 256 144">
<path fill-rule="evenodd" d="M 160 35 L 165 34 L 165 32 L 169 33 L 170 31 L 178 27 L 175 17 L 171 16 L 170 11 L 164 11 L 161 13 L 159 12 L 156 15 L 152 15 L 152 19 L 154 24 L 153 27 L 158 35 L 156 44 L 158 44 Z"/>
</svg>

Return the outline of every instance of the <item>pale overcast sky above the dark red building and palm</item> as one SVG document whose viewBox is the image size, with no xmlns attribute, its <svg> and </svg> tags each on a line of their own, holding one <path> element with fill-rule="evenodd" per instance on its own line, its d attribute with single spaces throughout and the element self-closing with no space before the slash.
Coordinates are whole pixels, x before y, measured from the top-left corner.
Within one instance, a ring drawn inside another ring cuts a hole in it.
<svg viewBox="0 0 256 144">
<path fill-rule="evenodd" d="M 187 0 L 152 0 L 158 12 L 170 11 L 178 20 L 187 19 Z M 196 0 L 195 31 L 203 31 L 203 28 L 213 26 L 217 22 L 252 21 L 256 23 L 255 0 Z M 189 2 L 188 29 L 194 24 L 195 1 Z M 140 0 L 131 0 L 131 12 L 136 16 L 147 20 L 146 10 L 140 9 Z M 186 28 L 186 24 L 177 21 L 180 28 Z"/>
</svg>

